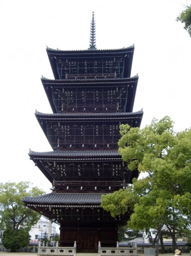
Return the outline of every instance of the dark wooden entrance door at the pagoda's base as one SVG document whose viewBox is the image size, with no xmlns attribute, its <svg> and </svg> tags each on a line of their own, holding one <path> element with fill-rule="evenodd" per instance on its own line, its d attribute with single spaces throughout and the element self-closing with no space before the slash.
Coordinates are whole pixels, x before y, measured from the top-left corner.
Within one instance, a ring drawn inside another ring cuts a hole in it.
<svg viewBox="0 0 191 256">
<path fill-rule="evenodd" d="M 82 251 L 96 250 L 96 232 L 82 232 Z"/>
</svg>

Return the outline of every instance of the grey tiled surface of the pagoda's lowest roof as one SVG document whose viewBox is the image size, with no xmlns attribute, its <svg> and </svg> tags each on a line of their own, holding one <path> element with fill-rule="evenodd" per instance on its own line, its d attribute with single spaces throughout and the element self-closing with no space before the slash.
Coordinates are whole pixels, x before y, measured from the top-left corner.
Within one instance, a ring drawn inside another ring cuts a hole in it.
<svg viewBox="0 0 191 256">
<path fill-rule="evenodd" d="M 30 204 L 100 204 L 102 194 L 50 193 L 39 196 L 24 196 L 23 202 Z"/>
</svg>

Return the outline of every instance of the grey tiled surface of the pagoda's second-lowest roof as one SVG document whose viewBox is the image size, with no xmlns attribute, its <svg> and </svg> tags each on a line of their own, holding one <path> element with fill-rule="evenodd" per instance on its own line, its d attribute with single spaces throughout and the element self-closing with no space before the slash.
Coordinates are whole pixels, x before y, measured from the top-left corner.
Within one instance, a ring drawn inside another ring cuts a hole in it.
<svg viewBox="0 0 191 256">
<path fill-rule="evenodd" d="M 118 157 L 121 158 L 121 155 L 118 153 L 117 150 L 72 150 L 72 151 L 49 151 L 49 152 L 35 152 L 30 150 L 29 152 L 30 156 L 46 156 L 46 157 L 51 157 L 51 156 L 59 156 L 59 157 L 103 157 L 103 156 L 108 156 L 108 157 Z"/>
</svg>

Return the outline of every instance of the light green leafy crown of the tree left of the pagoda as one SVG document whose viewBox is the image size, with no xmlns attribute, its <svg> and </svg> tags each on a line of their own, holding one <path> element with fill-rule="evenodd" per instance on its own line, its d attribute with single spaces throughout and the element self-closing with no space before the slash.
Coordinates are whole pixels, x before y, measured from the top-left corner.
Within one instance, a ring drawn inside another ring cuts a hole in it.
<svg viewBox="0 0 191 256">
<path fill-rule="evenodd" d="M 38 222 L 40 215 L 24 206 L 23 196 L 37 196 L 44 192 L 31 187 L 30 182 L 0 183 L 0 229 L 30 230 Z"/>
</svg>

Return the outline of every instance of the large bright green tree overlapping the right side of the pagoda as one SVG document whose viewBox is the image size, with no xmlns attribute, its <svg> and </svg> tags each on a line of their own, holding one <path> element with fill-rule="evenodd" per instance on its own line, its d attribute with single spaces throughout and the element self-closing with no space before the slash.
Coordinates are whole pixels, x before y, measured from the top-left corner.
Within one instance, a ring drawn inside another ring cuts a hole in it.
<svg viewBox="0 0 191 256">
<path fill-rule="evenodd" d="M 153 247 L 158 244 L 163 226 L 177 248 L 176 232 L 184 232 L 191 216 L 191 130 L 174 133 L 173 122 L 166 116 L 142 130 L 121 125 L 119 152 L 131 171 L 147 176 L 133 180 L 133 186 L 102 196 L 102 207 L 112 216 L 133 211 L 128 227 L 156 231 Z M 119 200 L 121 198 L 121 200 Z"/>
</svg>

